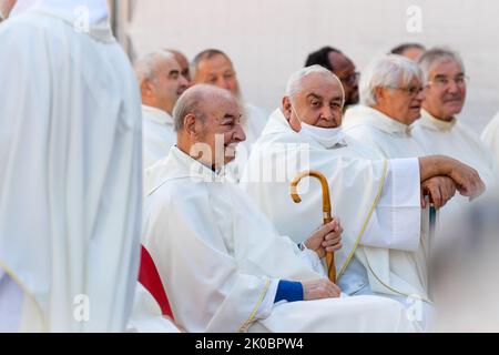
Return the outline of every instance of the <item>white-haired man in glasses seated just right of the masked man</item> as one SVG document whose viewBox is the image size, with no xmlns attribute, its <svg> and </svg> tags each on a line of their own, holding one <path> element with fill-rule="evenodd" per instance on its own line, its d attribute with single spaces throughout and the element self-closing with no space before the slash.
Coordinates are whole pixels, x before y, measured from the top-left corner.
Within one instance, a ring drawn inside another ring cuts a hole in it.
<svg viewBox="0 0 499 355">
<path fill-rule="evenodd" d="M 424 82 L 422 71 L 409 59 L 390 54 L 374 60 L 360 80 L 361 105 L 345 115 L 345 132 L 386 159 L 427 155 L 410 131 L 410 125 L 420 118 L 425 100 Z M 446 205 L 457 187 L 451 179 L 440 178 L 439 187 L 431 195 L 435 207 L 439 210 Z M 426 209 L 421 213 L 421 222 L 413 226 L 415 231 L 420 231 L 419 246 L 414 253 L 406 254 L 425 284 L 429 246 L 434 242 L 429 235 L 429 209 Z M 427 287 L 425 292 L 428 292 Z"/>
</svg>

